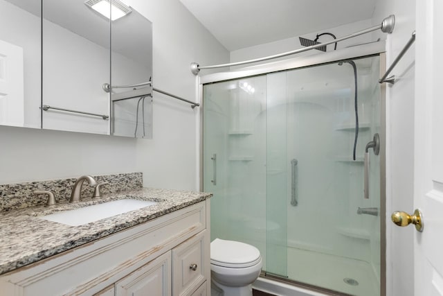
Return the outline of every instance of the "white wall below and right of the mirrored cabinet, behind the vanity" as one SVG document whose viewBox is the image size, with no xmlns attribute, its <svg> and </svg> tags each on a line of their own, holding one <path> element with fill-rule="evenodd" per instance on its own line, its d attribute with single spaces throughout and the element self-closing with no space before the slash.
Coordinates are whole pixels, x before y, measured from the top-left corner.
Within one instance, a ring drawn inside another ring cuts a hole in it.
<svg viewBox="0 0 443 296">
<path fill-rule="evenodd" d="M 153 23 L 154 86 L 196 100 L 190 62 L 228 62 L 228 51 L 178 0 L 129 4 Z M 141 171 L 145 186 L 197 189 L 197 112 L 155 95 L 152 140 L 1 126 L 0 184 Z"/>
</svg>

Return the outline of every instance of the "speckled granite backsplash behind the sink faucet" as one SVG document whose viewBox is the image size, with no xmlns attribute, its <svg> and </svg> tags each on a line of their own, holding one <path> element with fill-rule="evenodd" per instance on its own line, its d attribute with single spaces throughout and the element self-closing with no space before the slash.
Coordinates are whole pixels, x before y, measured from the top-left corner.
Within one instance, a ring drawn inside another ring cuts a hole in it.
<svg viewBox="0 0 443 296">
<path fill-rule="evenodd" d="M 80 176 L 79 176 L 80 177 Z M 143 186 L 142 173 L 122 173 L 116 175 L 93 175 L 97 184 L 109 182 L 101 186 L 101 192 L 117 193 L 132 189 L 140 189 Z M 17 184 L 0 185 L 0 211 L 11 211 L 13 209 L 24 209 L 37 205 L 44 205 L 47 195 L 35 195 L 35 190 L 50 190 L 55 194 L 55 200 L 69 200 L 71 198 L 72 187 L 76 178 L 47 180 L 36 182 L 23 182 Z M 92 196 L 93 187 L 87 182 L 82 186 L 82 196 Z"/>
</svg>

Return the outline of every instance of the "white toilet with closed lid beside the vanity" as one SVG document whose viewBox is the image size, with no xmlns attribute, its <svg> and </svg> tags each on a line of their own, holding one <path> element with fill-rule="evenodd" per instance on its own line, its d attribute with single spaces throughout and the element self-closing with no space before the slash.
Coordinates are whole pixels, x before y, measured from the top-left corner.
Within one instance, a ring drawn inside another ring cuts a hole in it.
<svg viewBox="0 0 443 296">
<path fill-rule="evenodd" d="M 252 283 L 262 270 L 260 251 L 239 241 L 210 243 L 211 295 L 252 296 Z"/>
</svg>

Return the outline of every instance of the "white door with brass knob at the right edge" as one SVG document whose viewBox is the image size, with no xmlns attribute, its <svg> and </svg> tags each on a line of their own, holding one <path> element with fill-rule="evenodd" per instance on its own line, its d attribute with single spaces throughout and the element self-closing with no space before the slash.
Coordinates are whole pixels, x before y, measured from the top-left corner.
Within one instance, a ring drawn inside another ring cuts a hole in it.
<svg viewBox="0 0 443 296">
<path fill-rule="evenodd" d="M 414 207 L 424 228 L 411 268 L 414 295 L 434 296 L 443 295 L 443 1 L 417 1 L 416 22 Z"/>
</svg>

